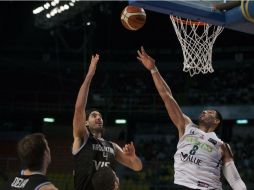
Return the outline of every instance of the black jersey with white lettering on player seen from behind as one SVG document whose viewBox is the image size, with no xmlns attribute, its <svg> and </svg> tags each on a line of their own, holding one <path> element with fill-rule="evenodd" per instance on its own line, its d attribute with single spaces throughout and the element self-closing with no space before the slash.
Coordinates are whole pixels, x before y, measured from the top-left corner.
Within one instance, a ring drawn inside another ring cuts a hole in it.
<svg viewBox="0 0 254 190">
<path fill-rule="evenodd" d="M 8 182 L 4 190 L 38 190 L 51 182 L 42 174 L 19 175 Z"/>
</svg>

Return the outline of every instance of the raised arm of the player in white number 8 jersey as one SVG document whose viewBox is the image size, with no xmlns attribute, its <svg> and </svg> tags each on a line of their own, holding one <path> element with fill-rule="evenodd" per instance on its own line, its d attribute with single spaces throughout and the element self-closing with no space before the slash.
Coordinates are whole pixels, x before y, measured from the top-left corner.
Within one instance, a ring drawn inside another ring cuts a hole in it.
<svg viewBox="0 0 254 190">
<path fill-rule="evenodd" d="M 141 47 L 141 50 L 138 50 L 137 59 L 144 65 L 146 69 L 151 72 L 155 86 L 163 102 L 165 103 L 171 120 L 179 131 L 180 138 L 184 133 L 185 126 L 191 122 L 190 118 L 183 114 L 172 95 L 171 89 L 156 68 L 155 60 L 145 52 L 143 47 Z"/>
</svg>

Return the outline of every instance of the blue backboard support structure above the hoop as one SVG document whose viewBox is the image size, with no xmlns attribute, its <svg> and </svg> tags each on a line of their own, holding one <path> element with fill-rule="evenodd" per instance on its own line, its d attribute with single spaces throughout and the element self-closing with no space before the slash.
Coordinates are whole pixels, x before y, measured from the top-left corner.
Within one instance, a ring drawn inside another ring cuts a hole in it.
<svg viewBox="0 0 254 190">
<path fill-rule="evenodd" d="M 254 34 L 254 1 L 245 0 L 244 8 L 243 6 L 241 6 L 241 1 L 238 1 L 239 6 L 236 6 L 232 9 L 229 10 L 214 9 L 214 5 L 225 4 L 227 2 L 223 2 L 221 0 L 217 1 L 129 0 L 130 5 L 142 7 L 145 10 L 150 10 L 168 15 L 180 16 L 183 18 L 207 22 L 217 26 L 223 26 L 231 30 Z M 248 18 L 246 18 L 246 13 Z"/>
</svg>

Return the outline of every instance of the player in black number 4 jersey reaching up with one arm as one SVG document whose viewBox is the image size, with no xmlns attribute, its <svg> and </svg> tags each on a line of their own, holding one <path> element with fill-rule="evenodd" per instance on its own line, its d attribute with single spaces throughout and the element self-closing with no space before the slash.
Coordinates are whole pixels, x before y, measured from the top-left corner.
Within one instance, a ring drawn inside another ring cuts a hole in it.
<svg viewBox="0 0 254 190">
<path fill-rule="evenodd" d="M 98 61 L 98 54 L 92 56 L 75 104 L 72 154 L 76 190 L 93 190 L 93 174 L 101 167 L 111 167 L 115 170 L 116 161 L 134 171 L 142 169 L 142 162 L 135 154 L 133 143 L 126 144 L 122 149 L 116 143 L 104 140 L 101 113 L 92 110 L 87 114 L 85 111 L 90 83 Z"/>
</svg>

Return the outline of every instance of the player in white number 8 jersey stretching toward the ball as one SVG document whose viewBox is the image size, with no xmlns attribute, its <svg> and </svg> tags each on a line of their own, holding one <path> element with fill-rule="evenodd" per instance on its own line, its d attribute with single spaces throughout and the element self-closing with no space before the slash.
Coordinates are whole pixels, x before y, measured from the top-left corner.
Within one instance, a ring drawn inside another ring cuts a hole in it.
<svg viewBox="0 0 254 190">
<path fill-rule="evenodd" d="M 233 160 L 229 145 L 221 141 L 214 130 L 222 117 L 216 110 L 204 110 L 195 125 L 187 117 L 166 84 L 151 58 L 141 47 L 137 59 L 151 72 L 155 86 L 165 103 L 167 112 L 179 132 L 174 155 L 174 183 L 184 189 L 222 190 L 221 168 L 233 190 L 246 190 Z"/>
</svg>

